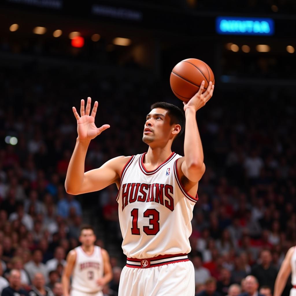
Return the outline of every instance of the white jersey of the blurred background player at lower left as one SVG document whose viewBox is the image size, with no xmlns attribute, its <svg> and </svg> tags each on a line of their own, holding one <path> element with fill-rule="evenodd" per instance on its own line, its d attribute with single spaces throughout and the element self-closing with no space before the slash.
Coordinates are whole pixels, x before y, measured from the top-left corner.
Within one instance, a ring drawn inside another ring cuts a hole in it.
<svg viewBox="0 0 296 296">
<path fill-rule="evenodd" d="M 102 290 L 96 283 L 104 273 L 101 248 L 94 246 L 91 255 L 86 254 L 82 247 L 75 248 L 76 261 L 72 274 L 72 288 L 84 293 L 95 293 Z"/>
</svg>

